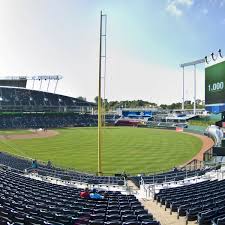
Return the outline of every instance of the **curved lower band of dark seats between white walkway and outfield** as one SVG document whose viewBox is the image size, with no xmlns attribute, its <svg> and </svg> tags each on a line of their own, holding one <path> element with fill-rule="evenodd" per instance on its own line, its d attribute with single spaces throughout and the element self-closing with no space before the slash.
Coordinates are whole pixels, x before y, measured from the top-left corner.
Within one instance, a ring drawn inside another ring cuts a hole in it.
<svg viewBox="0 0 225 225">
<path fill-rule="evenodd" d="M 8 166 L 10 168 L 19 170 L 21 172 L 28 170 L 31 171 L 31 160 L 25 158 L 19 158 L 12 156 L 8 153 L 0 153 L 0 164 Z M 210 171 L 211 168 L 197 169 L 193 171 L 169 171 L 166 173 L 159 173 L 149 176 L 131 176 L 128 179 L 132 180 L 137 187 L 140 184 L 160 184 L 170 181 L 179 181 L 186 178 L 202 176 L 206 172 Z M 112 184 L 112 185 L 124 185 L 124 179 L 119 176 L 95 176 L 87 173 L 78 171 L 65 170 L 62 168 L 52 167 L 49 168 L 45 164 L 39 164 L 38 174 L 42 176 L 50 176 L 59 179 L 69 179 L 77 182 L 83 182 L 88 184 Z"/>
</svg>

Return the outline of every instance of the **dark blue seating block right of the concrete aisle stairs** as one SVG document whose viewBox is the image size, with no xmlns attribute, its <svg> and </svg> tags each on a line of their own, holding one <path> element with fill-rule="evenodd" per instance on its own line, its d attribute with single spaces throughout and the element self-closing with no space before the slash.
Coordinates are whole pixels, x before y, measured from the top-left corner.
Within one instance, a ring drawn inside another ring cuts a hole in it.
<svg viewBox="0 0 225 225">
<path fill-rule="evenodd" d="M 161 189 L 154 199 L 177 212 L 178 218 L 197 220 L 199 225 L 222 225 L 225 217 L 225 180 L 203 181 L 197 184 Z"/>
</svg>

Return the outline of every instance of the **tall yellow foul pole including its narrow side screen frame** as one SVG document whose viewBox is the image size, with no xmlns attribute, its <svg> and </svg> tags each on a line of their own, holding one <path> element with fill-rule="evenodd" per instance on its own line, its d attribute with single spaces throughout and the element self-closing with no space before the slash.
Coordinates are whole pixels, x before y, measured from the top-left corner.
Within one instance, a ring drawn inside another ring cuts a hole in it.
<svg viewBox="0 0 225 225">
<path fill-rule="evenodd" d="M 105 60 L 105 58 L 106 58 L 106 54 L 102 54 L 102 41 L 104 38 L 105 45 L 106 45 L 106 18 L 107 18 L 107 16 L 102 14 L 102 11 L 101 11 L 101 14 L 100 14 L 100 45 L 99 45 L 99 74 L 98 74 L 98 175 L 99 176 L 102 176 L 102 95 L 101 95 L 101 92 L 102 92 L 102 59 Z M 103 24 L 104 24 L 104 26 L 103 26 Z M 103 27 L 104 27 L 104 29 L 103 29 Z M 106 46 L 105 46 L 105 53 L 106 53 Z M 104 69 L 104 71 L 105 71 L 105 69 Z M 105 79 L 105 74 L 104 74 L 104 79 Z M 104 84 L 105 84 L 105 80 L 104 80 Z M 105 95 L 105 91 L 104 91 L 104 95 Z"/>
</svg>

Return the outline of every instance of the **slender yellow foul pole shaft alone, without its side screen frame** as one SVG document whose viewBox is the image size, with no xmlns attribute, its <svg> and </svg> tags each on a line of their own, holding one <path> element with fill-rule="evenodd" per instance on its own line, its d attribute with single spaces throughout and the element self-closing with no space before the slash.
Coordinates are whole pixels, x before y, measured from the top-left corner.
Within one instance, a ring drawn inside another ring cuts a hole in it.
<svg viewBox="0 0 225 225">
<path fill-rule="evenodd" d="M 98 76 L 98 176 L 102 175 L 102 11 L 100 15 L 100 47 L 99 47 L 99 76 Z"/>
</svg>

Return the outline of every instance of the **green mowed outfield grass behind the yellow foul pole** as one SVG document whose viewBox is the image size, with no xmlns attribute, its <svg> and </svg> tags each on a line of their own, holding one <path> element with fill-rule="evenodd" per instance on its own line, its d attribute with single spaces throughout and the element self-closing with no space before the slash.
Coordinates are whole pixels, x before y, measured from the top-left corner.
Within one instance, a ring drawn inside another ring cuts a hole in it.
<svg viewBox="0 0 225 225">
<path fill-rule="evenodd" d="M 80 171 L 97 171 L 97 128 L 58 129 L 43 139 L 0 141 L 0 150 Z M 150 128 L 105 128 L 104 173 L 162 171 L 183 164 L 201 148 L 197 137 Z"/>
</svg>

